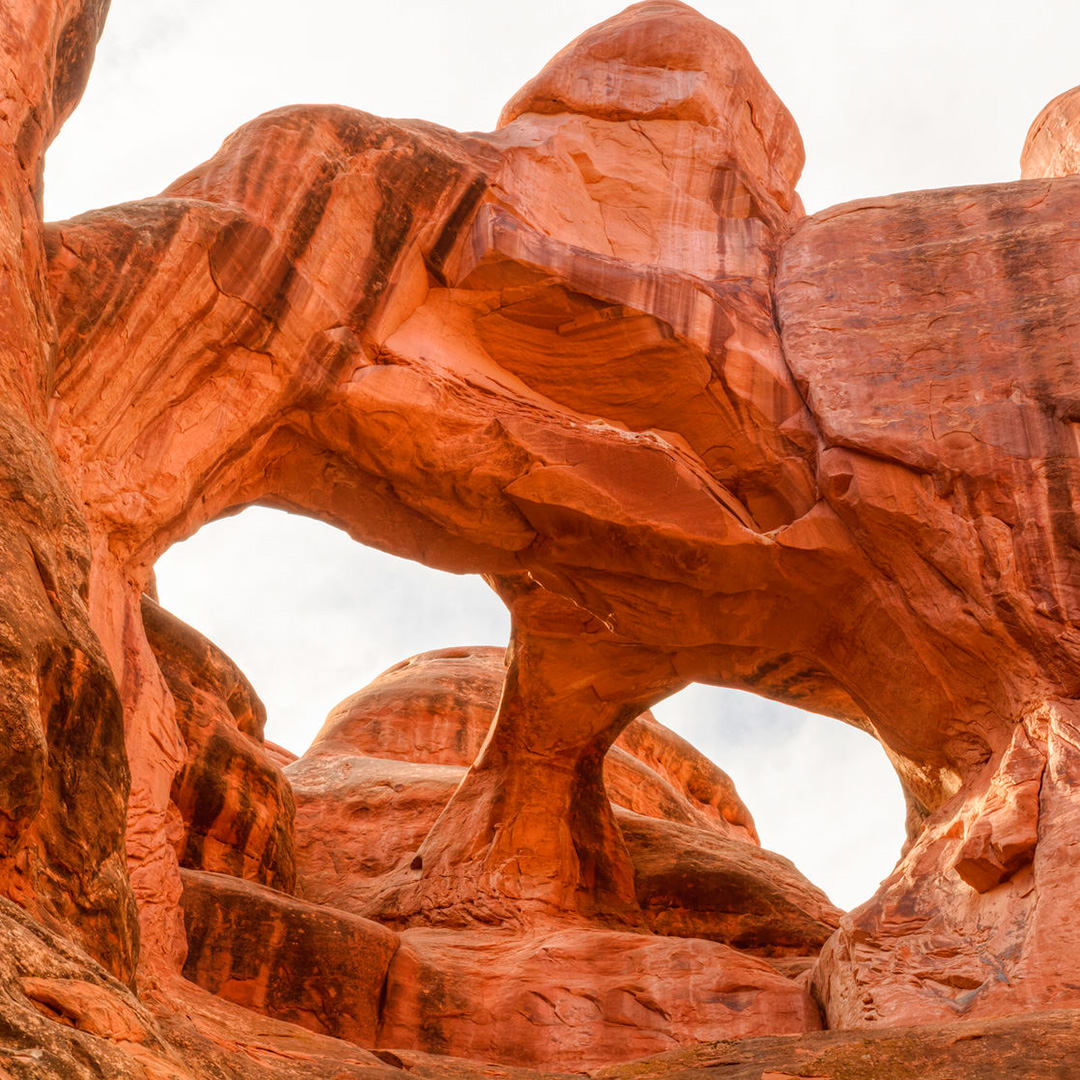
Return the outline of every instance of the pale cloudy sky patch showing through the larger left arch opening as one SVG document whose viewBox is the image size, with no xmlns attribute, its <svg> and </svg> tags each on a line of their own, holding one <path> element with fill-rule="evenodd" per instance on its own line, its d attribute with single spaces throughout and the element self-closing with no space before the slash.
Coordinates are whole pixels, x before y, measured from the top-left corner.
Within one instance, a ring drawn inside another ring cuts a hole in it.
<svg viewBox="0 0 1080 1080">
<path fill-rule="evenodd" d="M 330 708 L 407 657 L 510 637 L 478 577 L 265 507 L 204 525 L 156 573 L 162 606 L 235 661 L 267 706 L 267 738 L 297 755 Z"/>
</svg>

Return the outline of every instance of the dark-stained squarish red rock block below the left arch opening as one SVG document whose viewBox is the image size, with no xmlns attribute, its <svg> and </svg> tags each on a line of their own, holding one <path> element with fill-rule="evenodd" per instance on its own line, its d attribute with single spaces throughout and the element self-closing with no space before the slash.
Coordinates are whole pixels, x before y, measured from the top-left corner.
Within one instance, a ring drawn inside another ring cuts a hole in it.
<svg viewBox="0 0 1080 1080">
<path fill-rule="evenodd" d="M 222 874 L 183 879 L 187 978 L 268 1016 L 374 1043 L 396 934 Z"/>
</svg>

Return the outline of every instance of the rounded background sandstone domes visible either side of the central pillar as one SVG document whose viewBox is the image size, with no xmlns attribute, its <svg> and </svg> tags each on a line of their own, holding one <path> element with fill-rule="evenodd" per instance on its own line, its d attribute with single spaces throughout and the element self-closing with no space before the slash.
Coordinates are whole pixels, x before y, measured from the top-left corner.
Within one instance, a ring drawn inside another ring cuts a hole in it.
<svg viewBox="0 0 1080 1080">
<path fill-rule="evenodd" d="M 473 752 L 456 747 L 481 745 L 502 674 L 499 649 L 423 653 L 332 710 L 308 752 L 287 768 L 298 807 L 298 889 L 306 899 L 390 917 L 380 899 L 387 875 L 413 868 L 461 784 L 463 766 L 443 762 Z M 605 759 L 612 801 L 637 811 L 618 821 L 624 836 L 632 823 L 635 902 L 653 929 L 771 955 L 815 955 L 839 913 L 786 860 L 760 852 L 747 827 L 727 820 L 753 828 L 730 779 L 648 714 L 629 725 L 620 742 L 686 785 L 674 786 L 621 746 Z M 681 827 L 650 831 L 638 814 Z M 417 917 L 437 921 L 449 913 Z"/>
</svg>

